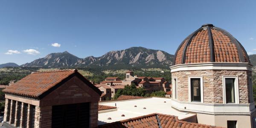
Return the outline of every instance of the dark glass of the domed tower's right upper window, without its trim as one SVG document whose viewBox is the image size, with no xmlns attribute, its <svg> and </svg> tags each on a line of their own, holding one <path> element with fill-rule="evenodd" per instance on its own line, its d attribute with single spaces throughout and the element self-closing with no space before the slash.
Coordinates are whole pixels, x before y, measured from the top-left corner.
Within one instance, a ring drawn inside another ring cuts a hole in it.
<svg viewBox="0 0 256 128">
<path fill-rule="evenodd" d="M 226 89 L 226 102 L 235 103 L 235 79 L 226 78 L 225 79 L 225 89 Z"/>
</svg>

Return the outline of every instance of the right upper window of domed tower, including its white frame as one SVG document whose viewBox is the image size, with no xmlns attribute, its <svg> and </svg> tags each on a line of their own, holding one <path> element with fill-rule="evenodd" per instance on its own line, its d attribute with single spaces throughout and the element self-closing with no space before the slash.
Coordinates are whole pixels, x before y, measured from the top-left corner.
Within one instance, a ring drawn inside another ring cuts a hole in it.
<svg viewBox="0 0 256 128">
<path fill-rule="evenodd" d="M 223 103 L 239 104 L 238 77 L 223 76 Z"/>
</svg>

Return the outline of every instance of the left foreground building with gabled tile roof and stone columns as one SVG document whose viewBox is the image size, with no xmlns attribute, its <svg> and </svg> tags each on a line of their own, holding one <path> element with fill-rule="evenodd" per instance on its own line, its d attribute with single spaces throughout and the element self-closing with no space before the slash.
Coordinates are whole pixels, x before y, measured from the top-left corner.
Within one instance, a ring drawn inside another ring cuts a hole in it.
<svg viewBox="0 0 256 128">
<path fill-rule="evenodd" d="M 95 128 L 101 91 L 77 70 L 35 72 L 6 87 L 3 127 Z"/>
</svg>

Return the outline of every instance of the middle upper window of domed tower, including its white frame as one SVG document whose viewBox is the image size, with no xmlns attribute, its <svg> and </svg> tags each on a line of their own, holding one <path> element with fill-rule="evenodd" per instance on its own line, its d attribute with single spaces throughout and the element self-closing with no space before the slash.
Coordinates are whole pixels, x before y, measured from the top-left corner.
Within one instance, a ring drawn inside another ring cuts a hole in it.
<svg viewBox="0 0 256 128">
<path fill-rule="evenodd" d="M 189 102 L 204 102 L 203 77 L 189 76 Z"/>
</svg>

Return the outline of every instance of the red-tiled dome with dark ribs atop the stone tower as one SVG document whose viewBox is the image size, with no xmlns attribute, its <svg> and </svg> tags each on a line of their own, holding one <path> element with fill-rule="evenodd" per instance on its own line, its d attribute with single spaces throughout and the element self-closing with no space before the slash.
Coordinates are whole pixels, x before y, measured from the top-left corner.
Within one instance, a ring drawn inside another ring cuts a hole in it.
<svg viewBox="0 0 256 128">
<path fill-rule="evenodd" d="M 176 64 L 248 62 L 244 47 L 224 29 L 205 24 L 190 34 L 175 53 Z"/>
</svg>

